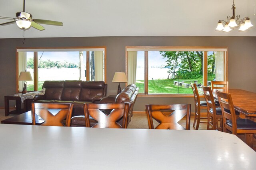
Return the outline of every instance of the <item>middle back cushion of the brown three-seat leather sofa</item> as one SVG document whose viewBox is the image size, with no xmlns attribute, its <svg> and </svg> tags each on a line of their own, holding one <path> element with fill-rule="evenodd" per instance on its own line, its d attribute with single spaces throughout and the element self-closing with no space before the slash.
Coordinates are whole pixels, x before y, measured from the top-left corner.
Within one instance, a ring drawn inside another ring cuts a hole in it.
<svg viewBox="0 0 256 170">
<path fill-rule="evenodd" d="M 61 99 L 64 101 L 78 101 L 82 87 L 82 80 L 66 80 Z"/>
</svg>

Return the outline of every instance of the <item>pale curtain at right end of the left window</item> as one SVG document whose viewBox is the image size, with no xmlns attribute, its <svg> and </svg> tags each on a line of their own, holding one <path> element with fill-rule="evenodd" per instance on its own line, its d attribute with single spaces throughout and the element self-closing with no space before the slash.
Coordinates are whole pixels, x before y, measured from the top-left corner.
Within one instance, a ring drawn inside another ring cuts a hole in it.
<svg viewBox="0 0 256 170">
<path fill-rule="evenodd" d="M 103 51 L 94 51 L 95 81 L 104 81 L 104 54 Z"/>
</svg>

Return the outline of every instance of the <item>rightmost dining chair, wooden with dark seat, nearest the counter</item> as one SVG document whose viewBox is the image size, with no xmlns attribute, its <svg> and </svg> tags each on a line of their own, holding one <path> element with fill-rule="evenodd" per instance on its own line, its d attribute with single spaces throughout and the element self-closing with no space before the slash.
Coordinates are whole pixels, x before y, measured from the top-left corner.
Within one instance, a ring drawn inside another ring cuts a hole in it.
<svg viewBox="0 0 256 170">
<path fill-rule="evenodd" d="M 256 122 L 250 119 L 237 119 L 230 93 L 217 90 L 216 94 L 222 111 L 223 131 L 229 130 L 235 135 L 244 134 L 246 144 L 252 147 L 253 135 L 256 133 Z"/>
</svg>

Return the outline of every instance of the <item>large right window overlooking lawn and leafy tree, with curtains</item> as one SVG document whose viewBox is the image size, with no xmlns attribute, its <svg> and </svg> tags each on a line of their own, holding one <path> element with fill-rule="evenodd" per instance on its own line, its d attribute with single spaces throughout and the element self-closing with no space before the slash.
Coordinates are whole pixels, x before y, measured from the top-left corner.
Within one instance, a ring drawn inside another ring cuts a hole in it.
<svg viewBox="0 0 256 170">
<path fill-rule="evenodd" d="M 126 47 L 128 84 L 145 95 L 192 94 L 190 83 L 227 81 L 226 48 Z"/>
</svg>

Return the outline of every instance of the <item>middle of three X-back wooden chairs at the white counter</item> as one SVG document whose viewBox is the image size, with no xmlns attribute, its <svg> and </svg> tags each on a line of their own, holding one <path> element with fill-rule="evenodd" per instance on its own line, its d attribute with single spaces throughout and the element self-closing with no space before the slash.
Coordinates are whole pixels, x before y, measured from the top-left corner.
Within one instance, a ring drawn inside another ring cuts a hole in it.
<svg viewBox="0 0 256 170">
<path fill-rule="evenodd" d="M 104 113 L 109 113 L 106 115 Z M 127 128 L 128 103 L 84 104 L 85 126 L 90 127 L 90 121 L 96 121 L 94 128 Z M 118 121 L 122 121 L 122 125 Z"/>
</svg>

